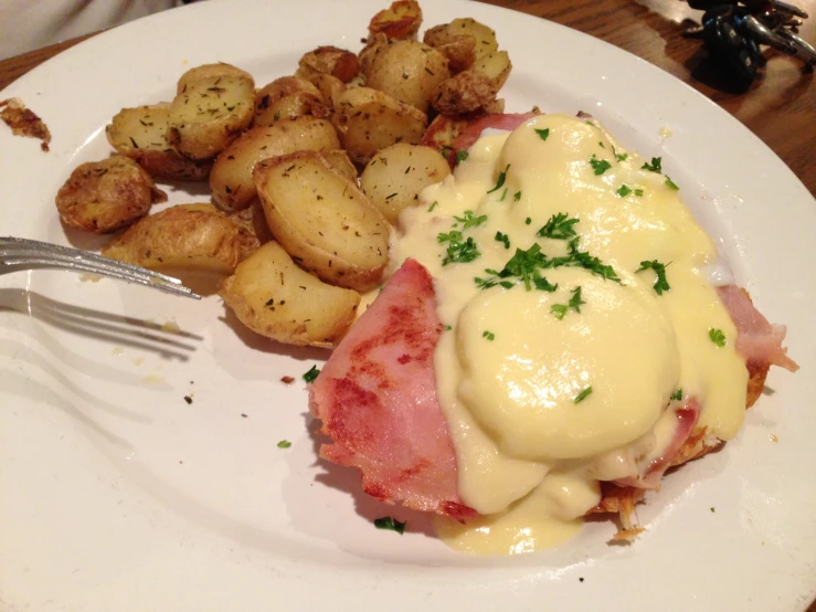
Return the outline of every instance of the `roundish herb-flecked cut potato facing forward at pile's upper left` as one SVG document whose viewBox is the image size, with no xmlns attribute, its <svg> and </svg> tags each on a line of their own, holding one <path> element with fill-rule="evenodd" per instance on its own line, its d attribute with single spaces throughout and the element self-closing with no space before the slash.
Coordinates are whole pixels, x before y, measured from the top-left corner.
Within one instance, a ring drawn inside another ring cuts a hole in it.
<svg viewBox="0 0 816 612">
<path fill-rule="evenodd" d="M 254 82 L 243 76 L 195 80 L 170 104 L 170 143 L 192 159 L 215 157 L 250 127 L 254 103 Z"/>
</svg>

